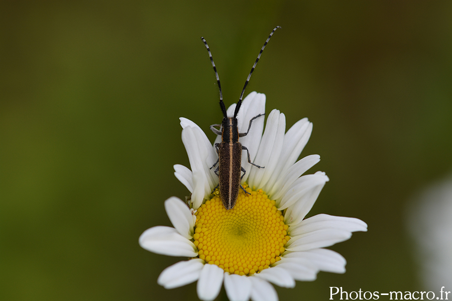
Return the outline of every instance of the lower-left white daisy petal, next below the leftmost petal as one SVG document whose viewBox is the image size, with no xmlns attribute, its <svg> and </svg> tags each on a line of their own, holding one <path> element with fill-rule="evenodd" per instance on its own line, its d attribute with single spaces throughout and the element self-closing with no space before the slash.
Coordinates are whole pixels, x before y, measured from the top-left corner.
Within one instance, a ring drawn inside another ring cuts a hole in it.
<svg viewBox="0 0 452 301">
<path fill-rule="evenodd" d="M 157 283 L 166 289 L 189 284 L 198 280 L 203 266 L 201 259 L 179 261 L 165 268 L 157 279 Z"/>
</svg>

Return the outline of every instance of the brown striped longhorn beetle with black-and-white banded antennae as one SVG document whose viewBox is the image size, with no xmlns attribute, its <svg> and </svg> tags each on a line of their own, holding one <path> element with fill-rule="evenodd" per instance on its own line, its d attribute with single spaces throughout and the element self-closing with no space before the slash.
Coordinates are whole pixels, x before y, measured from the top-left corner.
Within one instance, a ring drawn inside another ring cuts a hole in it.
<svg viewBox="0 0 452 301">
<path fill-rule="evenodd" d="M 251 123 L 254 119 L 265 115 L 265 113 L 259 114 L 257 116 L 254 116 L 250 120 L 250 124 L 248 125 L 248 130 L 246 133 L 239 133 L 238 128 L 238 121 L 237 121 L 237 114 L 239 113 L 240 106 L 242 105 L 242 99 L 243 94 L 245 93 L 245 88 L 248 85 L 248 82 L 250 81 L 251 74 L 254 71 L 254 68 L 256 68 L 257 63 L 259 62 L 259 59 L 261 57 L 262 52 L 264 51 L 265 46 L 267 46 L 268 41 L 272 37 L 273 33 L 280 28 L 279 26 L 275 27 L 270 35 L 267 38 L 267 41 L 265 41 L 264 46 L 262 46 L 261 51 L 259 52 L 259 55 L 256 59 L 256 62 L 254 62 L 253 68 L 251 68 L 250 74 L 248 75 L 247 80 L 245 81 L 245 85 L 243 87 L 242 93 L 240 94 L 239 101 L 237 102 L 236 109 L 234 111 L 234 116 L 228 117 L 226 112 L 226 107 L 223 103 L 223 94 L 221 92 L 221 84 L 219 82 L 218 72 L 216 72 L 215 64 L 213 63 L 213 58 L 210 53 L 209 46 L 207 45 L 207 42 L 203 37 L 201 37 L 201 40 L 204 42 L 205 48 L 207 48 L 207 52 L 210 57 L 210 62 L 213 66 L 213 71 L 215 71 L 216 81 L 218 82 L 218 89 L 219 89 L 219 97 L 220 97 L 220 108 L 221 112 L 223 113 L 223 120 L 221 121 L 221 124 L 213 124 L 210 125 L 210 129 L 217 135 L 221 135 L 221 143 L 215 143 L 216 152 L 218 154 L 218 160 L 215 162 L 215 164 L 210 168 L 212 169 L 217 164 L 218 166 L 214 170 L 214 173 L 218 176 L 218 185 L 219 187 L 219 193 L 221 201 L 223 202 L 224 207 L 229 210 L 233 209 L 234 205 L 236 205 L 237 197 L 239 196 L 239 187 L 245 191 L 245 193 L 248 193 L 243 186 L 240 184 L 241 180 L 243 179 L 243 176 L 245 176 L 245 169 L 242 167 L 242 150 L 246 150 L 248 154 L 248 162 L 257 167 L 257 168 L 263 168 L 259 165 L 256 165 L 251 162 L 250 159 L 250 152 L 248 148 L 243 146 L 239 142 L 239 137 L 244 137 L 250 132 Z M 216 129 L 215 126 L 219 127 L 220 129 Z M 241 176 L 241 172 L 243 172 L 243 175 Z M 216 187 L 215 187 L 216 189 Z M 249 194 L 249 193 L 248 193 Z"/>
</svg>

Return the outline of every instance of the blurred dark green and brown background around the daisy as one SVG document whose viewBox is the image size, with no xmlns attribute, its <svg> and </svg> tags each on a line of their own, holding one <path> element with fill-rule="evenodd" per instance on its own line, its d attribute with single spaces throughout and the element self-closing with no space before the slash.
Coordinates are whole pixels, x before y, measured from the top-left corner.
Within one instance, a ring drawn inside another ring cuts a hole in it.
<svg viewBox="0 0 452 301">
<path fill-rule="evenodd" d="M 314 124 L 302 156 L 326 184 L 310 215 L 369 232 L 331 249 L 346 274 L 277 287 L 281 300 L 420 290 L 405 209 L 452 168 L 452 2 L 0 2 L 0 299 L 196 300 L 159 273 L 181 258 L 138 245 L 171 225 L 189 166 L 178 118 L 218 123 L 217 87 Z M 439 289 L 439 287 L 438 287 Z"/>
</svg>

